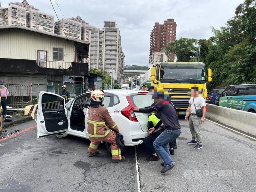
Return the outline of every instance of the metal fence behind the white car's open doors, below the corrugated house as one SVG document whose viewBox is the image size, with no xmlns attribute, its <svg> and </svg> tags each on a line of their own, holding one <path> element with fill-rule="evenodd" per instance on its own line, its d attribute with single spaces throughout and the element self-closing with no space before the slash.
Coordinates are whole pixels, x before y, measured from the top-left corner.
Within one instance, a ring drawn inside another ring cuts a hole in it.
<svg viewBox="0 0 256 192">
<path fill-rule="evenodd" d="M 62 90 L 62 84 L 5 84 L 5 87 L 9 90 L 7 106 L 15 108 L 25 108 L 26 105 L 37 104 L 40 91 L 60 94 Z M 82 84 L 67 84 L 67 90 L 71 98 L 82 94 L 84 91 Z"/>
</svg>

